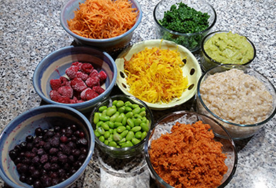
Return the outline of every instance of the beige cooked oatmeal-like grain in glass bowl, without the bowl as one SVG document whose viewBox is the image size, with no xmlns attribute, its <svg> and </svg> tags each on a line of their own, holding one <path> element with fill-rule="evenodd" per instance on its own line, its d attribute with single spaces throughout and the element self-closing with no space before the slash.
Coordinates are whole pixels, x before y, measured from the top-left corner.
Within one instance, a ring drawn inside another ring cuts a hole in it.
<svg viewBox="0 0 276 188">
<path fill-rule="evenodd" d="M 263 82 L 243 70 L 210 75 L 202 82 L 200 94 L 210 111 L 232 123 L 258 123 L 272 110 L 272 96 Z"/>
</svg>

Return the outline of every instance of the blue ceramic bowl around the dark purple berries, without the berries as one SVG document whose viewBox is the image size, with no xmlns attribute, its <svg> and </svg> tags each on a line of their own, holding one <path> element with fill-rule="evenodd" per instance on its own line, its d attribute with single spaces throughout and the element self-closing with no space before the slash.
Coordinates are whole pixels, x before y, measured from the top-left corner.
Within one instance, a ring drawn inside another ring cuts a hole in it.
<svg viewBox="0 0 276 188">
<path fill-rule="evenodd" d="M 86 169 L 88 162 L 91 160 L 94 146 L 95 137 L 91 127 L 91 123 L 88 119 L 76 109 L 72 109 L 68 106 L 61 105 L 45 105 L 39 106 L 34 109 L 25 111 L 23 114 L 17 116 L 4 128 L 0 135 L 0 176 L 1 179 L 6 182 L 10 187 L 30 187 L 19 180 L 19 175 L 16 170 L 16 166 L 8 156 L 8 152 L 12 150 L 16 145 L 23 142 L 28 135 L 35 135 L 35 128 L 41 127 L 52 128 L 52 124 L 63 123 L 72 125 L 75 124 L 81 128 L 86 134 L 88 140 L 88 155 L 83 165 L 76 171 L 74 175 L 69 179 L 52 186 L 57 187 L 69 187 L 70 184 L 76 181 Z"/>
</svg>

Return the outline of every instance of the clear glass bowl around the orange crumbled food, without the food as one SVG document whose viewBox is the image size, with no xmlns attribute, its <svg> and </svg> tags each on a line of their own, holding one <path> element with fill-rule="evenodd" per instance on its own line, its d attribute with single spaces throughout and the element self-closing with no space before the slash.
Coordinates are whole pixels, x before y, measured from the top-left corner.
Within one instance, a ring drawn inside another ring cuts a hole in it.
<svg viewBox="0 0 276 188">
<path fill-rule="evenodd" d="M 224 160 L 224 162 L 228 167 L 228 170 L 222 177 L 222 181 L 219 187 L 225 187 L 236 172 L 236 165 L 238 160 L 236 146 L 228 131 L 226 131 L 226 129 L 216 120 L 210 118 L 209 116 L 205 116 L 204 114 L 198 114 L 196 112 L 190 111 L 176 111 L 160 118 L 159 121 L 154 124 L 150 134 L 146 137 L 144 148 L 146 163 L 149 167 L 151 177 L 155 180 L 155 183 L 158 187 L 173 188 L 157 174 L 153 165 L 151 164 L 149 151 L 151 150 L 152 141 L 158 139 L 162 134 L 171 133 L 171 128 L 176 125 L 176 122 L 191 124 L 197 121 L 202 121 L 202 123 L 209 124 L 211 127 L 210 130 L 212 130 L 214 133 L 214 140 L 222 143 L 223 145 L 222 153 L 226 155 L 226 160 Z"/>
</svg>

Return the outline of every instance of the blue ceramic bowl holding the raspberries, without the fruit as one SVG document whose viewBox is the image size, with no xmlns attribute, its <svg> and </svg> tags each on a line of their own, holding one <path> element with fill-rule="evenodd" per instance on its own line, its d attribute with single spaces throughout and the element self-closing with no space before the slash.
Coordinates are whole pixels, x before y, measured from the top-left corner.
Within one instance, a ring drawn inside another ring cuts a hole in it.
<svg viewBox="0 0 276 188">
<path fill-rule="evenodd" d="M 65 70 L 71 66 L 72 62 L 89 62 L 100 72 L 104 70 L 108 75 L 105 84 L 102 86 L 105 92 L 94 99 L 84 101 L 78 104 L 62 104 L 50 99 L 51 79 L 59 79 L 65 75 Z M 36 67 L 33 74 L 33 87 L 38 95 L 47 104 L 61 104 L 77 109 L 81 112 L 87 112 L 93 108 L 99 101 L 109 96 L 114 87 L 117 77 L 117 67 L 110 55 L 106 52 L 96 50 L 85 46 L 69 46 L 56 50 L 47 55 Z"/>
</svg>

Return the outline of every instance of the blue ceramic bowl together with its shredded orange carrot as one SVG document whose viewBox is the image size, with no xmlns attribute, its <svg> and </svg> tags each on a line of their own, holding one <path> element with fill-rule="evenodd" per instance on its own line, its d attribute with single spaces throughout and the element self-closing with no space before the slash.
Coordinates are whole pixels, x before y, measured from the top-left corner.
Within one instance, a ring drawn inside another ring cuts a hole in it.
<svg viewBox="0 0 276 188">
<path fill-rule="evenodd" d="M 62 8 L 62 27 L 77 44 L 106 52 L 125 48 L 142 20 L 135 0 L 69 0 Z"/>
</svg>

